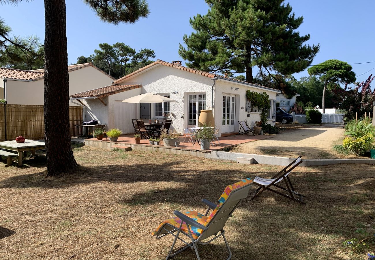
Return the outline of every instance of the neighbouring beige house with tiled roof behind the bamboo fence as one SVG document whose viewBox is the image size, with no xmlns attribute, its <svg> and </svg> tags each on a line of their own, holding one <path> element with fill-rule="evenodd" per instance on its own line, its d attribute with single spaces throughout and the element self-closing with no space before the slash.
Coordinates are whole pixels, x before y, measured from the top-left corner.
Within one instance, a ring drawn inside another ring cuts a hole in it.
<svg viewBox="0 0 375 260">
<path fill-rule="evenodd" d="M 92 63 L 68 66 L 69 95 L 87 89 L 110 85 L 115 79 Z M 44 103 L 44 69 L 18 70 L 0 68 L 0 99 L 7 104 L 43 105 Z M 70 106 L 80 104 L 70 103 Z"/>
</svg>

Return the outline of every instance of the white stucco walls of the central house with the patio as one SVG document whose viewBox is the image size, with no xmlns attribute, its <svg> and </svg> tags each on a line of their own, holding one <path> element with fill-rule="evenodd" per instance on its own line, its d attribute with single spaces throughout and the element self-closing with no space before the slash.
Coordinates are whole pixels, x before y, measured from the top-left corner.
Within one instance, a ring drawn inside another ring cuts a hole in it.
<svg viewBox="0 0 375 260">
<path fill-rule="evenodd" d="M 124 84 L 141 84 L 142 93 L 155 92 L 159 94 L 169 93 L 170 98 L 178 101 L 178 103 L 170 103 L 170 111 L 174 113 L 172 116 L 172 127 L 178 132 L 183 132 L 182 128 L 187 126 L 187 106 L 184 106 L 184 100 L 187 100 L 187 95 L 200 92 L 206 95 L 206 109 L 212 106 L 211 103 L 211 89 L 213 80 L 198 74 L 189 73 L 182 70 L 177 70 L 163 65 L 151 67 L 136 76 L 129 79 L 124 79 L 120 85 Z M 239 88 L 237 91 L 231 87 Z M 260 113 L 252 112 L 248 117 L 246 112 L 246 90 L 257 91 L 259 93 L 266 92 L 270 99 L 276 100 L 276 92 L 267 91 L 266 89 L 259 89 L 252 86 L 244 86 L 230 81 L 216 80 L 214 87 L 214 108 L 213 115 L 215 118 L 215 125 L 219 127 L 222 125 L 222 94 L 236 95 L 236 131 L 238 131 L 238 120 L 243 121 L 245 118 L 249 121 L 260 121 Z M 178 94 L 172 94 L 175 91 Z M 244 109 L 241 109 L 241 108 Z M 271 109 L 272 111 L 272 109 Z M 154 115 L 154 106 L 151 104 L 151 117 Z M 184 115 L 182 119 L 181 116 Z M 270 118 L 270 123 L 274 124 L 274 119 Z M 221 133 L 220 133 L 221 134 Z"/>
</svg>

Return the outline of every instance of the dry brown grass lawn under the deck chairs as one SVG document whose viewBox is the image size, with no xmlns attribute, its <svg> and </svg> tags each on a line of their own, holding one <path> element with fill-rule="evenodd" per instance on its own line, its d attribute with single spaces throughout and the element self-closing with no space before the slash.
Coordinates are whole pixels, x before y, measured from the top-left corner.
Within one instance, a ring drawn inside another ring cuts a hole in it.
<svg viewBox="0 0 375 260">
<path fill-rule="evenodd" d="M 42 155 L 22 168 L 0 165 L 1 259 L 165 259 L 172 238 L 151 232 L 174 210 L 204 213 L 202 198 L 216 201 L 228 184 L 281 169 L 92 147 L 74 153 L 80 171 L 60 178 L 44 177 Z M 342 241 L 375 228 L 374 172 L 301 167 L 291 179 L 306 205 L 270 192 L 244 200 L 226 224 L 232 259 L 365 259 L 374 245 L 351 254 Z M 199 250 L 202 259 L 227 257 L 222 238 Z M 188 249 L 175 259 L 196 257 Z"/>
</svg>

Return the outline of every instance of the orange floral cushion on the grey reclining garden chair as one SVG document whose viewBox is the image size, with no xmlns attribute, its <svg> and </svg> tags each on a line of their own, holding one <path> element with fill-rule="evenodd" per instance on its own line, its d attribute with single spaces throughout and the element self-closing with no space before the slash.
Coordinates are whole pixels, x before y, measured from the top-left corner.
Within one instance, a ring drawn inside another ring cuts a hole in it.
<svg viewBox="0 0 375 260">
<path fill-rule="evenodd" d="M 231 184 L 231 185 L 228 185 L 226 186 L 224 192 L 222 193 L 222 195 L 220 196 L 219 198 L 219 204 L 217 204 L 217 207 L 216 209 L 213 210 L 213 212 L 210 214 L 210 216 L 204 216 L 203 214 L 199 213 L 199 212 L 196 212 L 196 211 L 187 211 L 184 213 L 184 215 L 188 216 L 189 218 L 192 218 L 194 219 L 196 222 L 198 222 L 199 224 L 202 224 L 204 225 L 205 227 L 207 227 L 208 223 L 210 223 L 210 220 L 213 218 L 213 216 L 216 214 L 217 210 L 219 210 L 220 206 L 225 202 L 225 200 L 228 198 L 229 194 L 231 193 L 232 190 L 234 189 L 237 189 L 239 187 L 243 187 L 245 186 L 246 184 L 249 184 L 251 183 L 252 180 L 250 178 L 246 178 L 245 180 L 242 180 L 242 181 L 239 181 L 237 183 L 234 183 L 234 184 Z M 170 224 L 174 227 L 176 227 L 177 229 L 180 228 L 180 225 L 181 225 L 181 219 L 175 217 L 175 218 L 171 218 L 171 219 L 167 219 L 166 221 L 162 222 L 162 224 L 159 225 L 159 227 L 152 233 L 153 236 L 159 234 L 160 232 L 162 234 L 165 234 L 166 231 L 163 230 L 163 226 L 165 224 Z M 168 225 L 165 225 L 164 227 L 166 230 L 168 231 L 172 231 L 174 230 L 173 227 L 170 227 Z M 189 234 L 189 230 L 187 228 L 187 225 L 186 223 L 182 224 L 182 227 L 181 227 L 181 230 L 186 233 L 186 234 Z M 194 239 L 197 239 L 201 234 L 202 234 L 202 229 L 201 228 L 197 228 L 197 227 L 193 227 L 193 226 L 190 226 L 190 231 L 192 233 L 192 236 Z"/>
</svg>

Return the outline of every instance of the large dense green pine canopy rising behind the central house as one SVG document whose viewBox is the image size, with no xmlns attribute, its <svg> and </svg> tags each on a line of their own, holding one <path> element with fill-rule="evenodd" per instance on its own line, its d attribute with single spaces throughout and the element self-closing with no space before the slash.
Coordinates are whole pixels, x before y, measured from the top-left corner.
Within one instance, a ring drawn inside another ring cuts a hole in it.
<svg viewBox="0 0 375 260">
<path fill-rule="evenodd" d="M 290 75 L 305 70 L 319 51 L 306 45 L 310 35 L 296 30 L 295 17 L 283 0 L 205 0 L 205 15 L 190 18 L 195 30 L 184 35 L 178 53 L 188 67 L 210 72 L 245 72 L 253 83 L 252 67 L 264 73 Z M 281 86 L 280 86 L 281 88 Z"/>
</svg>

